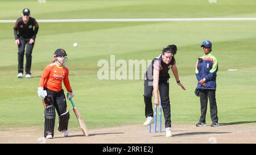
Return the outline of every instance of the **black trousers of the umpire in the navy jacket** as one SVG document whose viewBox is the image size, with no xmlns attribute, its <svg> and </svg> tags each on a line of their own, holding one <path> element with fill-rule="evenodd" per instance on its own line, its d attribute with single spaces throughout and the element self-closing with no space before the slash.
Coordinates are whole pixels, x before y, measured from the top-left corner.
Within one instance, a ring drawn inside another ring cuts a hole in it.
<svg viewBox="0 0 256 155">
<path fill-rule="evenodd" d="M 212 122 L 218 123 L 215 92 L 216 92 L 215 90 L 199 89 L 199 97 L 200 97 L 200 103 L 201 103 L 201 117 L 199 122 L 205 123 L 205 115 L 207 114 L 207 102 L 209 98 L 210 119 L 212 119 Z"/>
</svg>

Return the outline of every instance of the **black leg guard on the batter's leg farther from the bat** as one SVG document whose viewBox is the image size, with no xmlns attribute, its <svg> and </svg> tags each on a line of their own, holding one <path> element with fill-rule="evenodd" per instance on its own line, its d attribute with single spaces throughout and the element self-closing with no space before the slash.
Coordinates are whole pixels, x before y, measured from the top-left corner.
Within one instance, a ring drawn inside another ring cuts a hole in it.
<svg viewBox="0 0 256 155">
<path fill-rule="evenodd" d="M 52 137 L 54 136 L 55 117 L 55 107 L 46 107 L 44 110 L 44 137 L 47 135 L 52 135 Z"/>
</svg>

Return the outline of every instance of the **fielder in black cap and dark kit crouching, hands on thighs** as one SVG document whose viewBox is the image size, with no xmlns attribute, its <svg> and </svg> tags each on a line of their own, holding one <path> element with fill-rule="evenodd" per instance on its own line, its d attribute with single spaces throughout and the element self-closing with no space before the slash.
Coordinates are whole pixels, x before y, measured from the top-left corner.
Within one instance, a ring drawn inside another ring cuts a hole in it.
<svg viewBox="0 0 256 155">
<path fill-rule="evenodd" d="M 15 44 L 18 45 L 18 78 L 23 76 L 23 60 L 26 47 L 26 78 L 31 78 L 32 49 L 38 33 L 38 22 L 30 17 L 30 10 L 23 9 L 22 17 L 14 24 Z"/>
</svg>

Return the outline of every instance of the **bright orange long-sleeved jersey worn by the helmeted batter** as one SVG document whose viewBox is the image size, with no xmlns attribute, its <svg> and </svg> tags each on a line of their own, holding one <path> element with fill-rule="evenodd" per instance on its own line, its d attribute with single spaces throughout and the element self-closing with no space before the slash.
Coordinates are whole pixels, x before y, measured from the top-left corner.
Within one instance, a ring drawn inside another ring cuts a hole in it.
<svg viewBox="0 0 256 155">
<path fill-rule="evenodd" d="M 40 87 L 47 87 L 47 89 L 52 91 L 60 91 L 63 81 L 67 91 L 72 92 L 68 75 L 69 70 L 67 66 L 59 66 L 56 62 L 49 64 L 41 76 Z"/>
</svg>

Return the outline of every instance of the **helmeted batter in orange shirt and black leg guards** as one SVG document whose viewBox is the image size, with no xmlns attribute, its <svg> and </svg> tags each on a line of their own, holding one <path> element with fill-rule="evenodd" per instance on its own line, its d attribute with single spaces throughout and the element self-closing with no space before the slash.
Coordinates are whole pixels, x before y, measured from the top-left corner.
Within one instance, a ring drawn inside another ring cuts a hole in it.
<svg viewBox="0 0 256 155">
<path fill-rule="evenodd" d="M 69 111 L 62 89 L 62 82 L 68 91 L 68 99 L 73 98 L 69 83 L 69 70 L 64 65 L 67 54 L 64 49 L 57 49 L 54 53 L 52 64 L 46 66 L 40 79 L 38 95 L 44 102 L 44 137 L 51 139 L 54 136 L 55 109 L 59 115 L 58 130 L 68 136 Z"/>
</svg>

